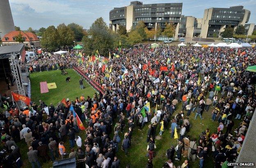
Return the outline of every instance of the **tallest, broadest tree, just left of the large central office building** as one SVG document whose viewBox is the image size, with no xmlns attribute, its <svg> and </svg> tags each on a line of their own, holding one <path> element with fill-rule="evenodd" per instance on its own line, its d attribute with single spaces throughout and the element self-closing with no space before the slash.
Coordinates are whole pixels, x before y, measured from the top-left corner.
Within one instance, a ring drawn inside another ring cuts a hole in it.
<svg viewBox="0 0 256 168">
<path fill-rule="evenodd" d="M 109 49 L 114 48 L 114 36 L 104 22 L 103 18 L 97 18 L 88 30 L 88 36 L 82 39 L 86 54 L 99 54 L 107 56 Z"/>
</svg>

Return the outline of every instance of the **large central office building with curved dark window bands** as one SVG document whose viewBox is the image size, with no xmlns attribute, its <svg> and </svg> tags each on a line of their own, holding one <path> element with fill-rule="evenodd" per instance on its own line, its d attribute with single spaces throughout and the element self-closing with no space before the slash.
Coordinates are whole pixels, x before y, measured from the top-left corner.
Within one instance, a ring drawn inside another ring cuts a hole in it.
<svg viewBox="0 0 256 168">
<path fill-rule="evenodd" d="M 129 6 L 114 8 L 110 11 L 110 28 L 116 31 L 122 25 L 130 31 L 139 21 L 143 21 L 148 29 L 156 25 L 165 28 L 167 22 L 176 26 L 176 36 L 178 36 L 181 11 L 182 3 L 143 4 L 133 1 Z"/>
</svg>

